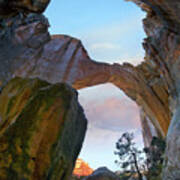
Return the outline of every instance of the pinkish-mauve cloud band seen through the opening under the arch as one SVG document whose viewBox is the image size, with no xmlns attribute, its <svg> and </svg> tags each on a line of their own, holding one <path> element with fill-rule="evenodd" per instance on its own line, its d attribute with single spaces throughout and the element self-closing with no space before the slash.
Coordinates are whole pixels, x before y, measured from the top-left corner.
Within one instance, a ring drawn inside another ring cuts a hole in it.
<svg viewBox="0 0 180 180">
<path fill-rule="evenodd" d="M 92 100 L 83 107 L 94 127 L 111 131 L 140 127 L 138 107 L 128 98 L 109 97 L 101 102 Z"/>
</svg>

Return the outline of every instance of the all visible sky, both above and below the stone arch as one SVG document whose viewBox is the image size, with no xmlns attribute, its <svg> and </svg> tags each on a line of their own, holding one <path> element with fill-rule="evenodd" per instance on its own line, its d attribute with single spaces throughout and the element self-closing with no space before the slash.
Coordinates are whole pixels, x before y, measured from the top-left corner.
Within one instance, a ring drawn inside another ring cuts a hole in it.
<svg viewBox="0 0 180 180">
<path fill-rule="evenodd" d="M 139 64 L 144 57 L 145 14 L 124 0 L 53 0 L 45 15 L 51 34 L 80 39 L 90 57 L 108 63 Z M 88 119 L 88 131 L 80 158 L 96 169 L 114 163 L 115 143 L 123 132 L 135 133 L 142 147 L 139 109 L 121 90 L 104 84 L 79 91 L 79 101 Z"/>
</svg>

